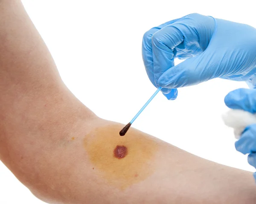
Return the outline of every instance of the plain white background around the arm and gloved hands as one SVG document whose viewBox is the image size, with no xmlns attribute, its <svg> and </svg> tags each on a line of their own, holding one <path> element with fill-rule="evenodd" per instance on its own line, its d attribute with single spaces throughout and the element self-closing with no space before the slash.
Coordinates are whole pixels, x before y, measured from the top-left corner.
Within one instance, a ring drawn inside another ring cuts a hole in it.
<svg viewBox="0 0 256 204">
<path fill-rule="evenodd" d="M 200 13 L 256 27 L 253 1 L 23 0 L 70 90 L 99 117 L 127 124 L 156 88 L 141 57 L 151 27 Z M 224 126 L 224 96 L 245 83 L 215 79 L 158 94 L 133 126 L 203 158 L 254 171 Z M 177 155 L 170 155 L 177 156 Z M 253 179 L 253 178 L 252 178 Z M 0 163 L 0 204 L 40 204 Z"/>
</svg>

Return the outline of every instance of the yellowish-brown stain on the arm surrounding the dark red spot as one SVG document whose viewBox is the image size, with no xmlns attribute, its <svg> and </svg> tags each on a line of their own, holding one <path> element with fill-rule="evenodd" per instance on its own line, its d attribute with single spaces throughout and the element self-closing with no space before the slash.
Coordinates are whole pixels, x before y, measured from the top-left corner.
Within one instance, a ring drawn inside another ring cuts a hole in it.
<svg viewBox="0 0 256 204">
<path fill-rule="evenodd" d="M 152 136 L 134 128 L 121 137 L 122 128 L 122 124 L 114 124 L 94 129 L 85 136 L 84 148 L 94 172 L 108 184 L 124 190 L 154 173 L 152 162 L 159 147 Z M 114 156 L 117 145 L 127 147 L 125 157 Z"/>
</svg>

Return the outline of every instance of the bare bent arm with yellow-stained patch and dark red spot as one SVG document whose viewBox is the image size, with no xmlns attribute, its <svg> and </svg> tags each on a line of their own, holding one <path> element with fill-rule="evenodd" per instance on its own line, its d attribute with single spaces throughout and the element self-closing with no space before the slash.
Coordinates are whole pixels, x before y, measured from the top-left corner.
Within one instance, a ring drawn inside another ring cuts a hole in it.
<svg viewBox="0 0 256 204">
<path fill-rule="evenodd" d="M 97 117 L 67 89 L 20 0 L 0 0 L 0 159 L 51 204 L 253 204 L 251 172 Z"/>
</svg>

